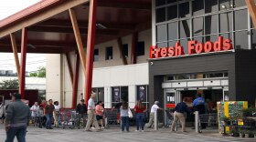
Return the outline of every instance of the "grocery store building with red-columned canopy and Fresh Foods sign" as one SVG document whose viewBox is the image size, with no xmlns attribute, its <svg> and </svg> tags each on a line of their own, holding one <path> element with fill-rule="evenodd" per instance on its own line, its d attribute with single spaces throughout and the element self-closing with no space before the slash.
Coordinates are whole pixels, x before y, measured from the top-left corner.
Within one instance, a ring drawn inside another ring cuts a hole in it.
<svg viewBox="0 0 256 142">
<path fill-rule="evenodd" d="M 0 51 L 49 54 L 47 98 L 64 107 L 91 91 L 107 108 L 197 93 L 253 104 L 255 14 L 253 0 L 45 0 L 0 22 Z"/>
</svg>

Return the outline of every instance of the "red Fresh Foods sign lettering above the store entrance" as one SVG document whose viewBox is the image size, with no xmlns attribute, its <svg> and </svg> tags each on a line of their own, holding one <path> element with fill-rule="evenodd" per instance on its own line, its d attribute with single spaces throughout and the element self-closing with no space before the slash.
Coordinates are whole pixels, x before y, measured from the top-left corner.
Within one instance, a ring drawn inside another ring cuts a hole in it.
<svg viewBox="0 0 256 142">
<path fill-rule="evenodd" d="M 218 51 L 226 51 L 233 49 L 231 44 L 231 39 L 225 39 L 223 36 L 219 36 L 216 42 L 206 42 L 200 43 L 197 40 L 192 40 L 187 42 L 187 51 L 188 55 L 193 54 L 202 54 L 209 52 L 218 52 Z M 150 47 L 150 58 L 159 58 L 159 57 L 168 57 L 168 56 L 184 56 L 184 48 L 180 46 L 180 43 L 177 42 L 176 46 L 170 47 L 161 47 L 157 46 Z"/>
</svg>

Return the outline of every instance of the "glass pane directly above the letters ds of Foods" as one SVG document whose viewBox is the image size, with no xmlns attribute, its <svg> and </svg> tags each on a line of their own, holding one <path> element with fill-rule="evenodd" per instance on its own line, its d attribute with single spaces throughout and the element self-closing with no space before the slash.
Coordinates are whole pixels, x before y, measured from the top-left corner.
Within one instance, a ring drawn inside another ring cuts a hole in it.
<svg viewBox="0 0 256 142">
<path fill-rule="evenodd" d="M 220 33 L 232 31 L 232 13 L 224 13 L 219 15 Z"/>
</svg>

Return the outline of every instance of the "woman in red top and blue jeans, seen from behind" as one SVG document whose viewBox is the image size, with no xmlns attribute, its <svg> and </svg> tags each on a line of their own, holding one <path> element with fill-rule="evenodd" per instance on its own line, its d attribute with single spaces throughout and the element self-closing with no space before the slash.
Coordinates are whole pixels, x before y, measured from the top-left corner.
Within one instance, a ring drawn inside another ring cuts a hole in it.
<svg viewBox="0 0 256 142">
<path fill-rule="evenodd" d="M 145 106 L 140 100 L 137 101 L 137 104 L 134 106 L 134 111 L 136 113 L 136 132 L 142 130 L 144 132 L 144 113 L 146 112 Z"/>
</svg>

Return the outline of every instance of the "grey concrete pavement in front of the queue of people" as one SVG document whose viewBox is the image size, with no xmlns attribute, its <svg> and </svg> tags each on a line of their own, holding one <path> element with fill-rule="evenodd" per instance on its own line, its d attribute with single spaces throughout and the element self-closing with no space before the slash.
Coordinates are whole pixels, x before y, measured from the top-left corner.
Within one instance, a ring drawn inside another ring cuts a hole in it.
<svg viewBox="0 0 256 142">
<path fill-rule="evenodd" d="M 0 141 L 5 141 L 5 128 L 0 125 Z M 202 134 L 197 134 L 192 129 L 187 129 L 186 134 L 181 132 L 170 132 L 169 128 L 145 129 L 145 132 L 135 132 L 135 127 L 131 127 L 131 132 L 121 132 L 118 127 L 105 129 L 101 132 L 84 132 L 82 129 L 45 129 L 28 127 L 27 142 L 255 142 L 253 138 L 222 137 L 217 130 L 205 130 Z M 16 140 L 15 140 L 16 141 Z"/>
</svg>

